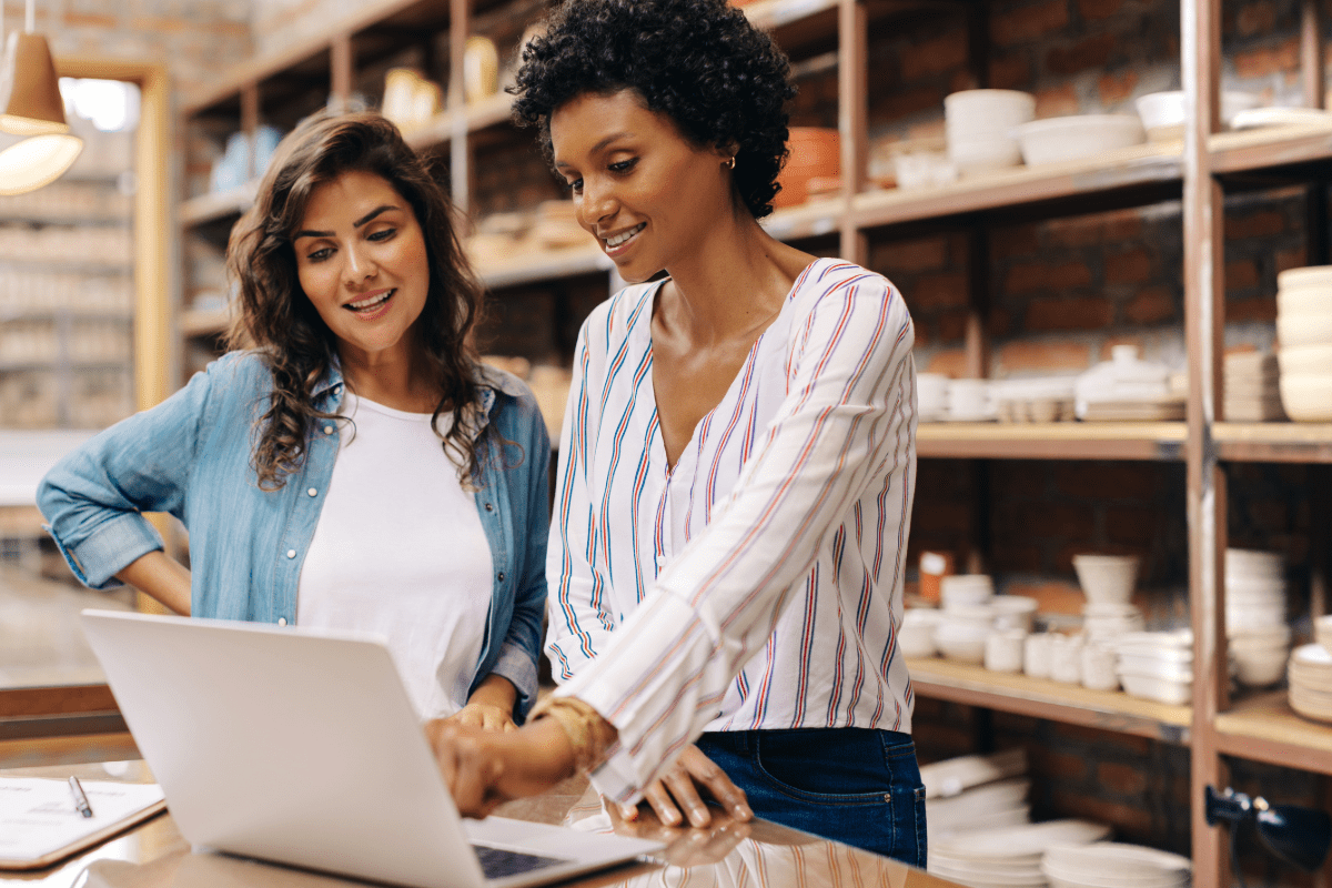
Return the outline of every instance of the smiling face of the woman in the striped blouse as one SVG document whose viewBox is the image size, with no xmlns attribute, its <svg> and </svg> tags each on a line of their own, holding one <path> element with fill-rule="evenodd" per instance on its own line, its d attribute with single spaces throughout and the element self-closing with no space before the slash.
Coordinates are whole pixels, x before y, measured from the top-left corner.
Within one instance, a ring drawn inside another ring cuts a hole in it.
<svg viewBox="0 0 1332 888">
<path fill-rule="evenodd" d="M 626 281 L 697 257 L 734 212 L 730 154 L 698 148 L 633 91 L 569 100 L 550 116 L 550 142 L 579 225 Z"/>
</svg>

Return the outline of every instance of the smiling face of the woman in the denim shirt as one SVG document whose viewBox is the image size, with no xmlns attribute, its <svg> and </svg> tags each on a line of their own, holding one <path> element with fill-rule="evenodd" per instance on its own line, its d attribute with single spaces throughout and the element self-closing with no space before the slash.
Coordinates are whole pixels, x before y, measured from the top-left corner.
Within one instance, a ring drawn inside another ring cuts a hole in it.
<svg viewBox="0 0 1332 888">
<path fill-rule="evenodd" d="M 416 213 L 393 185 L 353 170 L 316 186 L 292 246 L 301 289 L 344 361 L 413 347 L 430 264 Z"/>
</svg>

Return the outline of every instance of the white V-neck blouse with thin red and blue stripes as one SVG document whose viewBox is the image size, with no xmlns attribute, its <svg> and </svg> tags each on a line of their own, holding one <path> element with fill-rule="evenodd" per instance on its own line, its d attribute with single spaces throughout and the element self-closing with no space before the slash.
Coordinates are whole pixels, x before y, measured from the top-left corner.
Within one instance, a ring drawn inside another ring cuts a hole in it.
<svg viewBox="0 0 1332 888">
<path fill-rule="evenodd" d="M 911 726 L 902 294 L 813 262 L 671 467 L 651 375 L 659 286 L 625 288 L 579 333 L 547 555 L 557 692 L 618 728 L 593 779 L 621 801 L 705 730 Z"/>
</svg>

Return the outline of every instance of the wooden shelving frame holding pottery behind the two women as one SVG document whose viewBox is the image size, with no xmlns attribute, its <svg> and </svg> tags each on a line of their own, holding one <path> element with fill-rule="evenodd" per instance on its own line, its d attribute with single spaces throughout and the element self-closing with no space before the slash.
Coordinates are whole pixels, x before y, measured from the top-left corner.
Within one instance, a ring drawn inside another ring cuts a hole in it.
<svg viewBox="0 0 1332 888">
<path fill-rule="evenodd" d="M 473 3 L 372 0 L 354 15 L 330 23 L 322 37 L 272 57 L 256 59 L 220 79 L 206 92 L 186 96 L 181 103 L 184 125 L 202 117 L 214 121 L 226 117 L 234 120 L 237 128 L 253 132 L 264 116 L 265 103 L 281 93 L 278 81 L 288 71 L 298 71 L 306 80 L 322 72 L 332 100 L 345 101 L 354 83 L 353 65 L 358 59 L 354 48 L 380 52 L 393 40 L 405 45 L 420 37 L 416 33 L 409 40 L 406 35 L 413 29 L 448 32 L 453 48 L 449 80 L 461 84 L 461 47 L 470 33 Z M 1305 104 L 1321 107 L 1319 9 L 1315 0 L 1301 3 L 1307 25 L 1301 64 L 1307 72 L 1316 72 L 1305 77 Z M 492 7 L 485 5 L 486 9 Z M 983 242 L 986 226 L 995 222 L 1183 200 L 1184 330 L 1191 383 L 1185 422 L 926 423 L 919 427 L 916 443 L 918 455 L 932 459 L 1183 462 L 1188 477 L 1189 599 L 1197 664 L 1192 704 L 1164 706 L 1118 692 L 1000 676 L 944 660 L 911 662 L 910 668 L 915 690 L 923 696 L 1187 744 L 1192 751 L 1195 884 L 1221 884 L 1225 877 L 1223 839 L 1205 827 L 1201 811 L 1203 787 L 1221 781 L 1221 756 L 1332 774 L 1332 728 L 1299 719 L 1272 696 L 1235 707 L 1225 698 L 1225 635 L 1223 614 L 1216 607 L 1217 590 L 1224 587 L 1219 551 L 1225 545 L 1221 462 L 1332 462 L 1332 425 L 1215 421 L 1221 406 L 1224 343 L 1223 188 L 1299 182 L 1311 172 L 1325 177 L 1332 170 L 1332 126 L 1219 133 L 1220 3 L 1183 0 L 1181 68 L 1189 107 L 1196 109 L 1189 121 L 1189 138 L 1055 166 L 978 176 L 931 190 L 874 189 L 866 182 L 870 23 L 938 8 L 939 0 L 761 0 L 745 8 L 753 21 L 770 28 L 787 49 L 836 45 L 846 190 L 783 209 L 763 224 L 775 237 L 787 241 L 826 245 L 827 240 L 835 240 L 840 256 L 866 264 L 870 237 L 962 229 L 972 233 L 974 241 Z M 972 12 L 967 4 L 952 8 Z M 466 105 L 457 88 L 442 113 L 408 136 L 414 146 L 448 156 L 454 200 L 464 209 L 472 209 L 473 141 L 485 132 L 486 144 L 490 144 L 509 125 L 509 109 L 506 95 Z M 182 202 L 181 220 L 186 228 L 216 230 L 249 200 L 253 200 L 252 190 L 194 197 Z M 1311 256 L 1309 262 L 1325 258 Z M 610 264 L 595 248 L 522 254 L 502 264 L 481 264 L 478 270 L 492 290 L 557 286 L 569 278 L 598 273 L 607 276 L 607 284 L 614 280 Z M 984 305 L 984 294 L 972 293 L 967 324 L 970 375 L 986 373 Z M 218 316 L 186 316 L 181 326 L 186 334 L 201 335 L 216 333 L 220 321 Z"/>
</svg>

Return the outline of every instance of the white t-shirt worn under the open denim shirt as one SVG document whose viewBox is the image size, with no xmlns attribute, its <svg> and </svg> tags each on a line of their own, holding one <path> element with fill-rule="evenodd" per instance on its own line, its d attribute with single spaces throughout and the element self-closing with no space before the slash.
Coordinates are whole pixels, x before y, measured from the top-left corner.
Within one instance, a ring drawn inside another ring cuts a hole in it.
<svg viewBox="0 0 1332 888">
<path fill-rule="evenodd" d="M 473 494 L 430 414 L 357 398 L 342 414 L 333 478 L 297 586 L 300 626 L 388 640 L 422 719 L 468 702 L 492 598 L 492 556 Z M 452 414 L 441 414 L 449 427 Z"/>
</svg>

